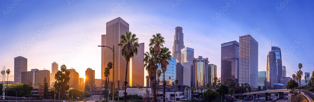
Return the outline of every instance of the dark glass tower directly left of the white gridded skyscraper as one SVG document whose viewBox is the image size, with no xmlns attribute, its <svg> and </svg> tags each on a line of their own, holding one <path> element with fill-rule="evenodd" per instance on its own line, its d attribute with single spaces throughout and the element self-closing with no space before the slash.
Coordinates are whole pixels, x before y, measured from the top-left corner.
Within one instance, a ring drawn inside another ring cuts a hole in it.
<svg viewBox="0 0 314 102">
<path fill-rule="evenodd" d="M 239 42 L 221 44 L 221 83 L 232 79 L 239 83 Z"/>
</svg>

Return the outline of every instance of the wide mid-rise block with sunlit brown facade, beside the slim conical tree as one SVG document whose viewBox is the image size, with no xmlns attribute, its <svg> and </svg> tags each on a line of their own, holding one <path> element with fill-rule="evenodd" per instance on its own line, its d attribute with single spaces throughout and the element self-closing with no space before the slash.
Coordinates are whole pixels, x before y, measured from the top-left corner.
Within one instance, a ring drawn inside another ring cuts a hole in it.
<svg viewBox="0 0 314 102">
<path fill-rule="evenodd" d="M 39 86 L 39 83 L 41 83 L 42 85 L 44 85 L 45 79 L 47 80 L 48 83 L 48 87 L 50 87 L 50 71 L 49 70 L 37 70 L 35 71 L 35 86 Z"/>
</svg>

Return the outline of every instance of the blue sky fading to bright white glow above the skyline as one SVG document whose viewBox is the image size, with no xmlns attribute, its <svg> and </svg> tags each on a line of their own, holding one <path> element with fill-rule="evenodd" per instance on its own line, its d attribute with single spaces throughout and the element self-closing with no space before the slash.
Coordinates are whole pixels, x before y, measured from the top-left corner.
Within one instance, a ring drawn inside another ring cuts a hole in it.
<svg viewBox="0 0 314 102">
<path fill-rule="evenodd" d="M 100 79 L 97 46 L 106 34 L 106 22 L 121 17 L 139 43 L 145 43 L 145 51 L 156 33 L 172 51 L 175 27 L 181 26 L 184 45 L 194 49 L 194 57 L 203 56 L 217 65 L 218 78 L 221 44 L 250 34 L 258 42 L 258 71 L 266 71 L 271 46 L 279 46 L 282 65 L 291 77 L 299 63 L 303 72 L 313 72 L 313 4 L 303 0 L 2 0 L 0 66 L 11 70 L 9 81 L 14 80 L 17 56 L 28 59 L 28 71 L 51 70 L 51 63 L 57 62 L 59 67 L 76 69 L 80 78 L 92 68 Z"/>
</svg>

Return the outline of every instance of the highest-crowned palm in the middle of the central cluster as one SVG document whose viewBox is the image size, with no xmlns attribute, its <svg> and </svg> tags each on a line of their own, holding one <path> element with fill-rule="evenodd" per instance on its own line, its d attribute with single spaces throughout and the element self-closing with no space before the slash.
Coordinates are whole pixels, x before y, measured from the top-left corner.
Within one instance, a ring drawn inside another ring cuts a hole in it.
<svg viewBox="0 0 314 102">
<path fill-rule="evenodd" d="M 150 47 L 153 47 L 154 48 L 154 58 L 155 58 L 155 60 L 154 60 L 154 64 L 155 64 L 155 66 L 154 67 L 157 67 L 157 57 L 158 57 L 158 54 L 160 53 L 160 51 L 161 51 L 161 47 L 160 46 L 162 46 L 162 47 L 164 47 L 162 44 L 164 44 L 165 43 L 165 38 L 164 37 L 162 37 L 161 35 L 160 35 L 160 33 L 158 33 L 158 34 L 156 34 L 156 35 L 153 35 L 152 36 L 153 38 L 152 39 L 150 39 L 150 43 L 149 43 L 149 46 Z M 157 69 L 157 68 L 155 68 L 155 69 Z M 155 73 L 154 73 L 154 75 L 156 76 L 156 71 L 155 71 Z M 156 77 L 155 77 L 156 78 Z M 164 78 L 165 79 L 165 78 Z M 154 81 L 156 81 L 156 79 L 154 79 Z M 156 89 L 154 89 L 154 101 L 157 101 L 157 98 L 156 98 Z M 164 102 L 165 102 L 165 99 L 164 99 Z"/>
</svg>

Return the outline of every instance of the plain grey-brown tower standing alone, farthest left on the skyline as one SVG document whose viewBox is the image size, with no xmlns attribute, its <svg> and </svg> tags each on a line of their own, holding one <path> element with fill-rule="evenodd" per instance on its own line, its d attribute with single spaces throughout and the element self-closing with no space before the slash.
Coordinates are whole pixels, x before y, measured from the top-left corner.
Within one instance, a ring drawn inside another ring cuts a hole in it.
<svg viewBox="0 0 314 102">
<path fill-rule="evenodd" d="M 27 58 L 17 56 L 14 58 L 14 82 L 21 83 L 21 72 L 27 71 Z"/>
</svg>

